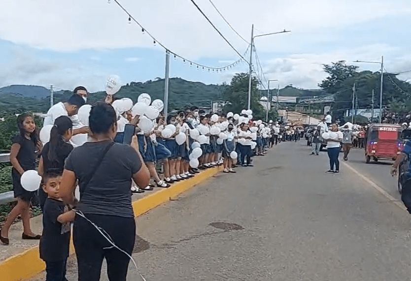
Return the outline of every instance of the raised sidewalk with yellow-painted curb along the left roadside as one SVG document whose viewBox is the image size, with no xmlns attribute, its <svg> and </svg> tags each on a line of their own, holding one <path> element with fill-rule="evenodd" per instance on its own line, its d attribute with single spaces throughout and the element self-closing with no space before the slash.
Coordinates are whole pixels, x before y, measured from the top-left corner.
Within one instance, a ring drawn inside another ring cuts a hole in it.
<svg viewBox="0 0 411 281">
<path fill-rule="evenodd" d="M 222 170 L 222 166 L 207 169 L 195 177 L 173 184 L 169 188 L 155 187 L 152 191 L 133 194 L 133 210 L 136 217 L 150 209 L 170 200 L 172 197 L 205 181 Z M 34 233 L 42 232 L 42 216 L 31 219 Z M 21 222 L 12 225 L 9 232 L 10 245 L 0 245 L 0 276 L 1 281 L 25 280 L 45 269 L 44 262 L 39 258 L 38 241 L 22 240 L 23 225 Z M 73 252 L 72 244 L 71 251 Z"/>
</svg>

